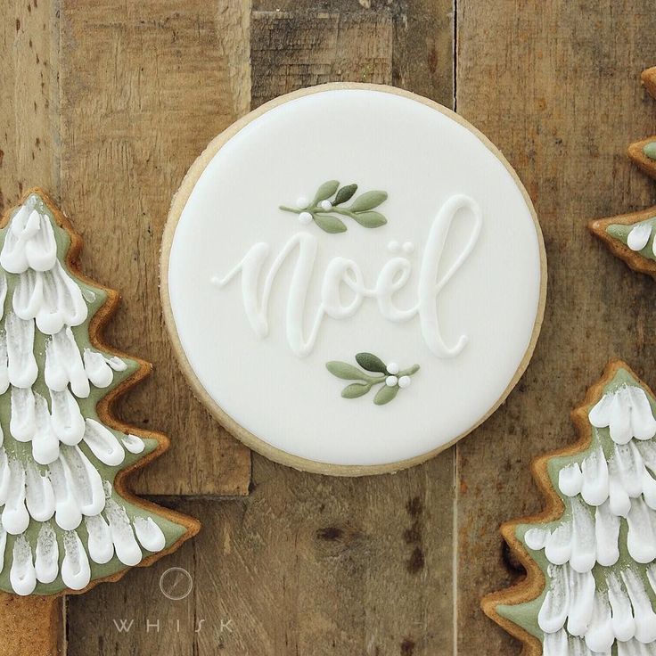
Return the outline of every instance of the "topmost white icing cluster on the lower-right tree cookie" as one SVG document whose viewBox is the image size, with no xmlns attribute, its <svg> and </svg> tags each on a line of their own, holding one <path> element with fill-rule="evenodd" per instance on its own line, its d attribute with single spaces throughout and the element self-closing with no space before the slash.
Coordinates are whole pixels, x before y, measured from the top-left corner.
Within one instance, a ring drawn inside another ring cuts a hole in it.
<svg viewBox="0 0 656 656">
<path fill-rule="evenodd" d="M 644 389 L 635 385 L 622 385 L 604 394 L 589 419 L 596 428 L 610 428 L 611 439 L 618 444 L 627 444 L 631 438 L 652 439 L 656 434 L 652 406 Z"/>
</svg>

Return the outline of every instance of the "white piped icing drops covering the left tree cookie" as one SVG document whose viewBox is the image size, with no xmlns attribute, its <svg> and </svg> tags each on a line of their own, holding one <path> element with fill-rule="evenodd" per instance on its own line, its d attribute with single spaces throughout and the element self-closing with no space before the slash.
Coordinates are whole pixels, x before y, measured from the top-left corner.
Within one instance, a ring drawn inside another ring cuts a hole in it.
<svg viewBox="0 0 656 656">
<path fill-rule="evenodd" d="M 0 396 L 9 396 L 7 435 L 0 425 L 0 573 L 11 544 L 16 594 L 58 577 L 59 589 L 79 590 L 93 563 L 116 557 L 132 566 L 142 549 L 166 545 L 157 521 L 128 513 L 112 487 L 111 471 L 127 454 L 142 453 L 143 439 L 115 434 L 78 403 L 94 388 L 109 388 L 127 364 L 79 347 L 73 329 L 86 322 L 95 294 L 61 266 L 58 230 L 33 194 L 5 228 L 0 250 Z M 37 332 L 45 335 L 45 354 L 37 352 Z M 28 534 L 32 522 L 40 527 Z"/>
</svg>

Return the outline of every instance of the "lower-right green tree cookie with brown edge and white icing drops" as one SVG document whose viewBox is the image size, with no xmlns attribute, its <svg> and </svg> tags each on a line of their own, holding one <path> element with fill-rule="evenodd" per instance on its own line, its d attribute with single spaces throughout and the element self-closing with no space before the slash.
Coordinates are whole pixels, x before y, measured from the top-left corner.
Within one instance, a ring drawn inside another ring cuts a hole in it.
<svg viewBox="0 0 656 656">
<path fill-rule="evenodd" d="M 527 570 L 483 610 L 527 654 L 656 654 L 656 398 L 614 361 L 572 414 L 580 439 L 537 459 L 544 512 L 504 524 Z"/>
</svg>

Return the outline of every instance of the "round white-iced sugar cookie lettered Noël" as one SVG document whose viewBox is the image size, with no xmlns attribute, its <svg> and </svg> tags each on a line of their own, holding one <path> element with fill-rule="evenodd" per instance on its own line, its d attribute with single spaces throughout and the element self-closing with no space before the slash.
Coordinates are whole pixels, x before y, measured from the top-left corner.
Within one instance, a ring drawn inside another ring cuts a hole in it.
<svg viewBox="0 0 656 656">
<path fill-rule="evenodd" d="M 395 471 L 494 412 L 545 305 L 528 194 L 454 112 L 389 86 L 268 102 L 173 201 L 161 293 L 193 389 L 299 469 Z"/>
</svg>

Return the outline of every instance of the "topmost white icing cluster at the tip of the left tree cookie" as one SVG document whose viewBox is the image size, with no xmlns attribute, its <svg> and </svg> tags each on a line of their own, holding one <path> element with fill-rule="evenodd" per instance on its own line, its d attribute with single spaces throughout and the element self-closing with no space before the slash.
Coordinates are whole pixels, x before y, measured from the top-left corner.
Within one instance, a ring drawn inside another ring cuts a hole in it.
<svg viewBox="0 0 656 656">
<path fill-rule="evenodd" d="M 0 251 L 0 266 L 12 274 L 22 274 L 28 267 L 48 271 L 56 262 L 53 226 L 48 217 L 33 209 L 35 200 L 28 199 L 12 217 Z"/>
</svg>

